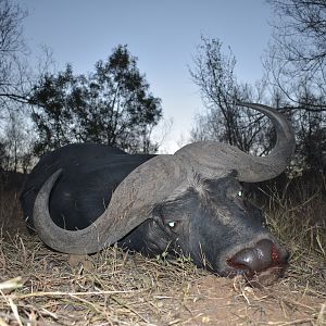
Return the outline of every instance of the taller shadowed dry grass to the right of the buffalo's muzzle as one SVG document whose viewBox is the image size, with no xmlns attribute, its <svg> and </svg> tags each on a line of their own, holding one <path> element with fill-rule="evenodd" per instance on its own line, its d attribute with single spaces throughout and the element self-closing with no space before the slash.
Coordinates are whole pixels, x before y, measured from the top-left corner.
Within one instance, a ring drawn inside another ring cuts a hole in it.
<svg viewBox="0 0 326 326">
<path fill-rule="evenodd" d="M 291 253 L 289 275 L 306 290 L 326 293 L 326 198 L 321 185 L 273 190 L 265 208 L 267 227 Z M 291 189 L 293 191 L 293 189 Z"/>
</svg>

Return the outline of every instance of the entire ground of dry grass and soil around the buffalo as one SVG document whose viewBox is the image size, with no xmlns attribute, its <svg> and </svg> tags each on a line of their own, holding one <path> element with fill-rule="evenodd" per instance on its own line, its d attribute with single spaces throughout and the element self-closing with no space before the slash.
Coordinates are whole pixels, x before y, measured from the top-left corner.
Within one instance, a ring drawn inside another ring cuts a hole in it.
<svg viewBox="0 0 326 326">
<path fill-rule="evenodd" d="M 3 196 L 8 226 L 20 214 L 16 198 Z M 262 289 L 186 259 L 149 260 L 117 248 L 76 259 L 37 236 L 8 235 L 11 223 L 0 236 L 0 326 L 326 325 L 325 205 L 317 192 L 296 201 L 273 192 L 267 224 L 291 251 L 291 264 L 284 279 Z"/>
</svg>

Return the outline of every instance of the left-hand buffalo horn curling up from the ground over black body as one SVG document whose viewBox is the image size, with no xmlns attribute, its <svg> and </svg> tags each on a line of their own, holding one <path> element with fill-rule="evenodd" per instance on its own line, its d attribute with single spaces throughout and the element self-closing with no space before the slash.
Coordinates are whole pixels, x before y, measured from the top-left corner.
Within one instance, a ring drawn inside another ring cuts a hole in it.
<svg viewBox="0 0 326 326">
<path fill-rule="evenodd" d="M 50 216 L 50 192 L 62 173 L 58 171 L 43 184 L 34 204 L 39 237 L 54 250 L 75 254 L 93 253 L 116 242 L 150 216 L 154 203 L 178 192 L 187 175 L 177 161 L 173 155 L 159 155 L 137 167 L 112 193 L 104 213 L 79 230 L 63 229 Z"/>
</svg>

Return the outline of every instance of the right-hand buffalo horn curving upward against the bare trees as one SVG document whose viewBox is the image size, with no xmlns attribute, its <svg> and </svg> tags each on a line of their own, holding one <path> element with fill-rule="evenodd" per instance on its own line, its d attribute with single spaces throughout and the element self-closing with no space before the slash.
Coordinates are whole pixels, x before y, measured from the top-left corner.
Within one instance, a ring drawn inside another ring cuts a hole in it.
<svg viewBox="0 0 326 326">
<path fill-rule="evenodd" d="M 276 128 L 277 140 L 266 156 L 253 156 L 240 149 L 215 141 L 189 143 L 175 155 L 185 164 L 191 164 L 203 177 L 220 177 L 231 171 L 237 172 L 240 181 L 256 183 L 272 179 L 285 171 L 294 151 L 294 134 L 285 115 L 262 104 L 238 103 L 258 110 L 269 117 Z M 188 162 L 188 163 L 187 163 Z M 191 162 L 191 163 L 190 163 Z"/>
</svg>

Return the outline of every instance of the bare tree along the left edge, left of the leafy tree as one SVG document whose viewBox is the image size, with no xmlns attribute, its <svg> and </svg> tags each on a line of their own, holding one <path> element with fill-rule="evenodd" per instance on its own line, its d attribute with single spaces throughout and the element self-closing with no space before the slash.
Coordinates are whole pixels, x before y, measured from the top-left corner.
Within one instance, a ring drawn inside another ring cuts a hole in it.
<svg viewBox="0 0 326 326">
<path fill-rule="evenodd" d="M 11 171 L 25 170 L 32 160 L 24 106 L 30 89 L 23 35 L 26 16 L 15 1 L 0 0 L 0 166 Z"/>
</svg>

